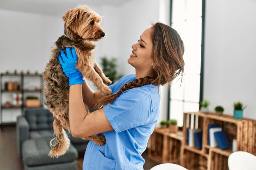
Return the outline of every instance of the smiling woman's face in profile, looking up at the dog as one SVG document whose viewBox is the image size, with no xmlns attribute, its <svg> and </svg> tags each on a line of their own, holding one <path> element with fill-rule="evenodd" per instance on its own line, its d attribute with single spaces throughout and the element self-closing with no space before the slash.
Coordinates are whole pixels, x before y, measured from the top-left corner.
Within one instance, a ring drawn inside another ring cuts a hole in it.
<svg viewBox="0 0 256 170">
<path fill-rule="evenodd" d="M 133 50 L 130 58 L 128 59 L 129 64 L 135 67 L 136 70 L 143 73 L 152 69 L 152 32 L 153 28 L 148 28 L 141 34 L 138 42 L 132 45 Z"/>
</svg>

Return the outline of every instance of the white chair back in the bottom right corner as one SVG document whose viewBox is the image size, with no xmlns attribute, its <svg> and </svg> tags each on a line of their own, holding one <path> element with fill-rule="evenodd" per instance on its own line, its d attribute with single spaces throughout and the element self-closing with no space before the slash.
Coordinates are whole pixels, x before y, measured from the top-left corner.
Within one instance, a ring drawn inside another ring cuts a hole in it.
<svg viewBox="0 0 256 170">
<path fill-rule="evenodd" d="M 231 153 L 228 157 L 229 170 L 256 170 L 256 156 L 238 151 Z"/>
</svg>

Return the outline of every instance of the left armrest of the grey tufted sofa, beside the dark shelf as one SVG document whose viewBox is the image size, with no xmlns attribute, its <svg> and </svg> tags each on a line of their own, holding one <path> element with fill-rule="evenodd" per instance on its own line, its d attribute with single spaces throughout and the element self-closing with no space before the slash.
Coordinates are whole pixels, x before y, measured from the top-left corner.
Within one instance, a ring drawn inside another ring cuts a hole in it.
<svg viewBox="0 0 256 170">
<path fill-rule="evenodd" d="M 20 155 L 20 158 L 22 158 L 21 153 L 21 146 L 22 143 L 28 139 L 29 134 L 29 125 L 24 116 L 18 116 L 17 122 L 16 122 L 16 140 L 17 140 L 17 147 L 18 147 L 18 153 Z"/>
</svg>

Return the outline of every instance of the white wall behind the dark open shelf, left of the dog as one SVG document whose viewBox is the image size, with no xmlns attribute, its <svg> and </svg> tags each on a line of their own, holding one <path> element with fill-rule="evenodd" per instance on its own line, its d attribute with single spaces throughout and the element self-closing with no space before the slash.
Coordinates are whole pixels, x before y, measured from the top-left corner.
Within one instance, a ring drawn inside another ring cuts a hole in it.
<svg viewBox="0 0 256 170">
<path fill-rule="evenodd" d="M 0 23 L 0 72 L 13 72 L 14 69 L 18 72 L 43 72 L 49 60 L 51 47 L 62 34 L 61 18 L 0 10 Z M 31 78 L 24 79 L 26 87 L 40 85 L 38 77 Z M 1 87 L 7 80 L 20 82 L 20 77 L 3 77 Z M 39 96 L 38 93 L 33 95 Z M 3 93 L 2 97 L 1 104 L 6 100 L 12 100 L 10 93 Z M 3 110 L 2 113 L 4 122 L 15 121 L 16 116 L 21 114 L 20 110 L 14 109 Z"/>
</svg>

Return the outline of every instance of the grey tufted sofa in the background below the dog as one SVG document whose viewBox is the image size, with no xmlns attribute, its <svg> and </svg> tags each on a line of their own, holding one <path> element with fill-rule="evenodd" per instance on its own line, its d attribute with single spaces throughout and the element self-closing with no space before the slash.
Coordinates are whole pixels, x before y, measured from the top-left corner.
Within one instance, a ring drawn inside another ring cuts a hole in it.
<svg viewBox="0 0 256 170">
<path fill-rule="evenodd" d="M 53 116 L 48 109 L 26 109 L 24 115 L 17 117 L 18 153 L 26 170 L 77 169 L 76 159 L 84 156 L 88 140 L 74 138 L 66 130 L 71 142 L 69 150 L 59 158 L 50 158 L 49 141 L 54 137 L 52 123 Z"/>
</svg>

